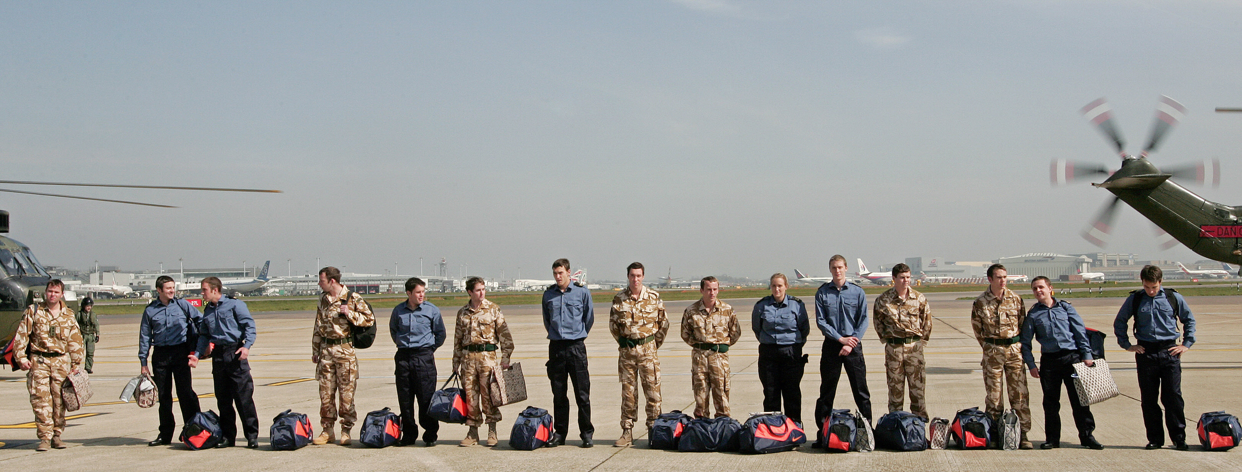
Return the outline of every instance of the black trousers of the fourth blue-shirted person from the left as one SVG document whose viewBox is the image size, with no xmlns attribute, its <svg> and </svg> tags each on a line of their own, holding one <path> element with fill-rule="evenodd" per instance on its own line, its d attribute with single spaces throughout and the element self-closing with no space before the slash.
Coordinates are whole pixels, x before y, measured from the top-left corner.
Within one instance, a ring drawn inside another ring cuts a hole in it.
<svg viewBox="0 0 1242 472">
<path fill-rule="evenodd" d="M 574 381 L 574 400 L 578 402 L 578 431 L 594 435 L 591 425 L 591 373 L 586 370 L 586 343 L 584 339 L 548 342 L 548 380 L 551 381 L 553 431 L 569 433 L 569 380 Z"/>
</svg>

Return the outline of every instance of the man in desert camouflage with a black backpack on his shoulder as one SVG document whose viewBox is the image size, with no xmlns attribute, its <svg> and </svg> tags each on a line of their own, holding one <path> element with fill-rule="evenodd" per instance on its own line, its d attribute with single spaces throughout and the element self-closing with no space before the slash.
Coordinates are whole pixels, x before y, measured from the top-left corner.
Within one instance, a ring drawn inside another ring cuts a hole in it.
<svg viewBox="0 0 1242 472">
<path fill-rule="evenodd" d="M 335 267 L 319 270 L 319 288 L 323 294 L 319 296 L 310 337 L 310 361 L 317 364 L 314 375 L 319 380 L 319 425 L 323 432 L 313 443 L 322 446 L 333 441 L 339 414 L 340 445 L 349 446 L 349 430 L 358 421 L 354 407 L 358 356 L 350 324 L 369 327 L 375 323 L 375 314 L 360 294 L 340 283 L 340 270 Z M 347 296 L 349 298 L 344 299 Z"/>
</svg>

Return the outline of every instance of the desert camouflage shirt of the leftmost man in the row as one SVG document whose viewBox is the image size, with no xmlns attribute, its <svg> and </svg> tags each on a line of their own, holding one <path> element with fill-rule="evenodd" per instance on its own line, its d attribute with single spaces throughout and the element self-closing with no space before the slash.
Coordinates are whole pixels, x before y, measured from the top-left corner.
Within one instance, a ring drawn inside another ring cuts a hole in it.
<svg viewBox="0 0 1242 472">
<path fill-rule="evenodd" d="M 70 363 L 81 365 L 86 356 L 86 345 L 82 344 L 82 332 L 78 330 L 73 309 L 61 303 L 61 313 L 52 315 L 47 309 L 47 302 L 40 302 L 26 307 L 26 313 L 17 324 L 17 333 L 12 335 L 12 360 L 20 363 L 26 358 L 26 347 L 31 352 L 48 354 L 68 354 Z"/>
</svg>

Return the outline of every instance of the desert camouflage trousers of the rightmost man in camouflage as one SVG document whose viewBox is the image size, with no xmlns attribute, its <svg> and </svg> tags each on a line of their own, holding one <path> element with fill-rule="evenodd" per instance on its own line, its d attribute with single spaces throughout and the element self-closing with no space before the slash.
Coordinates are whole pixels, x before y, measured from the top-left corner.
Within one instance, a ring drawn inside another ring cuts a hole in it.
<svg viewBox="0 0 1242 472">
<path fill-rule="evenodd" d="M 1010 407 L 1017 410 L 1022 432 L 1031 431 L 1031 395 L 1026 390 L 1026 365 L 1022 364 L 1022 344 L 996 345 L 984 343 L 984 401 L 987 415 L 997 421 L 1005 410 L 1001 383 L 1009 386 Z"/>
</svg>

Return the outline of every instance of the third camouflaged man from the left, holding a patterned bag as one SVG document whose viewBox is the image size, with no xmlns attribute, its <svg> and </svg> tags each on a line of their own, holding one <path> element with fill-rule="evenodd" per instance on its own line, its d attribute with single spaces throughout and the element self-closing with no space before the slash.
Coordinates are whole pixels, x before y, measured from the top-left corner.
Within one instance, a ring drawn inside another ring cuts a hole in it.
<svg viewBox="0 0 1242 472">
<path fill-rule="evenodd" d="M 496 446 L 496 424 L 501 421 L 501 409 L 492 405 L 492 370 L 499 365 L 509 368 L 513 355 L 513 334 L 504 322 L 501 306 L 487 299 L 487 283 L 481 277 L 466 279 L 469 303 L 457 311 L 453 334 L 453 371 L 461 376 L 466 389 L 466 426 L 469 432 L 460 446 L 478 443 L 478 426 L 487 421 L 487 445 Z M 501 354 L 497 355 L 497 349 Z"/>
</svg>

